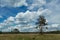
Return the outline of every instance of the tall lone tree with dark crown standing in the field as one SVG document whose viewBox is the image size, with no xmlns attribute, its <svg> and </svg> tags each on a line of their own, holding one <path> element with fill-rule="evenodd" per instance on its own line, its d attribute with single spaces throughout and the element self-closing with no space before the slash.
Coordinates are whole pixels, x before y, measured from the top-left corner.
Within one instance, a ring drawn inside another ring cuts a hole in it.
<svg viewBox="0 0 60 40">
<path fill-rule="evenodd" d="M 43 26 L 47 25 L 45 17 L 40 15 L 37 24 L 40 29 L 40 33 L 43 34 Z"/>
</svg>

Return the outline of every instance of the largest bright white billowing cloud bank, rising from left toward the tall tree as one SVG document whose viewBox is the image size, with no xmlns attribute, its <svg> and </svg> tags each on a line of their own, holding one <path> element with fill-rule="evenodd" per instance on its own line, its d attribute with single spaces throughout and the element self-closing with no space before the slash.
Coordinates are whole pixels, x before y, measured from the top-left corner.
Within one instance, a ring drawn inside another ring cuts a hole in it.
<svg viewBox="0 0 60 40">
<path fill-rule="evenodd" d="M 2 31 L 11 31 L 11 29 L 18 28 L 20 31 L 31 32 L 38 31 L 35 27 L 35 23 L 39 18 L 39 15 L 43 15 L 48 11 L 47 9 L 41 11 L 40 9 L 35 12 L 26 11 L 20 12 L 15 17 L 10 16 L 3 23 L 0 23 Z M 47 14 L 47 13 L 46 13 Z M 29 30 L 28 30 L 29 29 Z"/>
</svg>

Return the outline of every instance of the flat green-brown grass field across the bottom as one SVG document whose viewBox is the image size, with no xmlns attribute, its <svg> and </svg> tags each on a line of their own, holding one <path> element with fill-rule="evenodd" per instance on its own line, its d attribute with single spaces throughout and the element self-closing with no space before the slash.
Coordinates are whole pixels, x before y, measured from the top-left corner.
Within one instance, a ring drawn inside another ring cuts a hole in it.
<svg viewBox="0 0 60 40">
<path fill-rule="evenodd" d="M 60 40 L 60 34 L 0 34 L 0 40 Z"/>
</svg>

